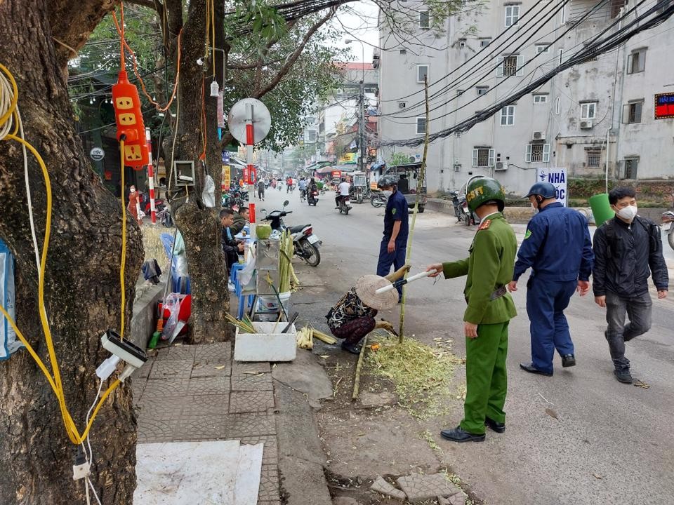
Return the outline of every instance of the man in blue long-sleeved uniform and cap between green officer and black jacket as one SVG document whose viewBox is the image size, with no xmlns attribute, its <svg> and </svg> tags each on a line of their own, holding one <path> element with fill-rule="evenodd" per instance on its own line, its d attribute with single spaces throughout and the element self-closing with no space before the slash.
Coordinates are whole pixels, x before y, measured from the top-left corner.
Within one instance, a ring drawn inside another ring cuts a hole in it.
<svg viewBox="0 0 674 505">
<path fill-rule="evenodd" d="M 531 363 L 520 363 L 520 368 L 551 376 L 555 349 L 562 356 L 562 367 L 576 364 L 564 309 L 574 291 L 584 296 L 590 290 L 594 255 L 586 218 L 557 202 L 553 184 L 538 182 L 527 196 L 539 212 L 527 224 L 508 289 L 517 291 L 517 279 L 531 267 L 527 283 Z"/>
</svg>

